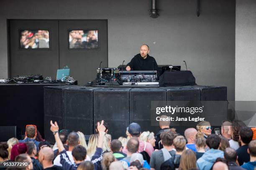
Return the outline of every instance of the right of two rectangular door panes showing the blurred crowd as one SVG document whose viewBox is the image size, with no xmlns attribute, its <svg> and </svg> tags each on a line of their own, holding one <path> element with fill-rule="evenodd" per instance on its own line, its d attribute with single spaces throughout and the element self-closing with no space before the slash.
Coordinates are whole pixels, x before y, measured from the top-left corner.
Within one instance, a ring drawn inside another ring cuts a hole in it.
<svg viewBox="0 0 256 170">
<path fill-rule="evenodd" d="M 69 30 L 69 49 L 97 49 L 98 30 Z"/>
</svg>

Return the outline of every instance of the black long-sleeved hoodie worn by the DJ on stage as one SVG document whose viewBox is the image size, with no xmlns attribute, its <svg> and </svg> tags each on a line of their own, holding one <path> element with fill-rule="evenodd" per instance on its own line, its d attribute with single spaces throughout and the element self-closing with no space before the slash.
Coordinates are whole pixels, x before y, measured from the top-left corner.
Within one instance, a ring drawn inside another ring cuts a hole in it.
<svg viewBox="0 0 256 170">
<path fill-rule="evenodd" d="M 130 66 L 131 70 L 157 70 L 158 66 L 154 57 L 147 55 L 146 59 L 141 57 L 141 54 L 137 54 L 133 57 L 131 62 L 126 66 Z"/>
</svg>

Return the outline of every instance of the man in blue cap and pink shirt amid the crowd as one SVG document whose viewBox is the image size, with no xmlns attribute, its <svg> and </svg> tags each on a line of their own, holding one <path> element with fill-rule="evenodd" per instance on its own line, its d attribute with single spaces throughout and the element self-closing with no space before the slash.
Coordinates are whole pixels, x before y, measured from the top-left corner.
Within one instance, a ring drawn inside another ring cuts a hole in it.
<svg viewBox="0 0 256 170">
<path fill-rule="evenodd" d="M 141 126 L 138 123 L 131 123 L 128 127 L 128 132 L 129 137 L 137 137 L 139 140 L 139 149 L 138 152 L 143 152 L 145 151 L 148 153 L 148 155 L 151 157 L 152 153 L 154 152 L 154 148 L 150 143 L 147 143 L 143 140 L 140 140 L 140 135 L 141 135 Z M 127 148 L 123 149 L 123 153 L 127 154 Z"/>
</svg>

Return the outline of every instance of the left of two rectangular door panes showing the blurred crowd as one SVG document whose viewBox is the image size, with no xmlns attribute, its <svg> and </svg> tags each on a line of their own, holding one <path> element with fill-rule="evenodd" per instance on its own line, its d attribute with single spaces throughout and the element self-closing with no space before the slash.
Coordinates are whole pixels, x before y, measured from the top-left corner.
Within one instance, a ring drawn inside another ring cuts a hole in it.
<svg viewBox="0 0 256 170">
<path fill-rule="evenodd" d="M 20 30 L 20 49 L 49 48 L 49 30 Z"/>
</svg>

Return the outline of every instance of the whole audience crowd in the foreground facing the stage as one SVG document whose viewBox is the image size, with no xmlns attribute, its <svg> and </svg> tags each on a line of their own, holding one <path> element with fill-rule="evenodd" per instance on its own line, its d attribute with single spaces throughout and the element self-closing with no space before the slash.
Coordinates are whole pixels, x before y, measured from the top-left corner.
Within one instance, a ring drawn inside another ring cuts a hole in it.
<svg viewBox="0 0 256 170">
<path fill-rule="evenodd" d="M 60 130 L 50 122 L 55 145 L 38 138 L 36 125 L 26 126 L 23 140 L 0 144 L 0 161 L 20 161 L 26 166 L 8 170 L 255 170 L 256 130 L 242 121 L 222 122 L 221 135 L 210 122 L 187 128 L 184 136 L 160 121 L 156 135 L 141 132 L 131 123 L 126 137 L 111 139 L 108 124 L 97 122 L 87 143 L 82 132 Z M 183 134 L 183 133 L 182 133 Z M 3 163 L 2 163 L 3 165 Z M 3 166 L 2 166 L 3 167 Z"/>
</svg>

